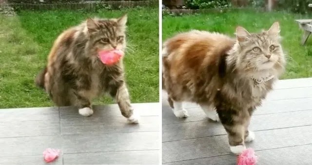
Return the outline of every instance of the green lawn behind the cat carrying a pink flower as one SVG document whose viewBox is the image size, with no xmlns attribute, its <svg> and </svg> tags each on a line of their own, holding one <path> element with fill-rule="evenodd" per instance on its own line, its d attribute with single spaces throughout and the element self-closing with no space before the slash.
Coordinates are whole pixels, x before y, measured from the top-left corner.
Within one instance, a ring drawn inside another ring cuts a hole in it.
<svg viewBox="0 0 312 165">
<path fill-rule="evenodd" d="M 126 81 L 132 102 L 158 102 L 158 9 L 123 11 L 23 11 L 16 17 L 0 16 L 0 108 L 53 106 L 37 88 L 34 77 L 46 65 L 58 35 L 88 17 L 112 18 L 128 14 Z M 112 103 L 100 98 L 95 104 Z"/>
</svg>

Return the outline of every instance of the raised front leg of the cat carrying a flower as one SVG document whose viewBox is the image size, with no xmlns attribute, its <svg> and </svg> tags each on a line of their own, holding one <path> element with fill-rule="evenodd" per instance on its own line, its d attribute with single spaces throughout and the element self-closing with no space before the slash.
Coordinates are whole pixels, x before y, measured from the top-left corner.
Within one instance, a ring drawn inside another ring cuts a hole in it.
<svg viewBox="0 0 312 165">
<path fill-rule="evenodd" d="M 112 94 L 112 96 L 114 97 L 114 94 Z M 129 92 L 124 82 L 117 87 L 115 98 L 121 114 L 126 117 L 130 123 L 138 123 L 140 116 L 131 106 Z"/>
</svg>

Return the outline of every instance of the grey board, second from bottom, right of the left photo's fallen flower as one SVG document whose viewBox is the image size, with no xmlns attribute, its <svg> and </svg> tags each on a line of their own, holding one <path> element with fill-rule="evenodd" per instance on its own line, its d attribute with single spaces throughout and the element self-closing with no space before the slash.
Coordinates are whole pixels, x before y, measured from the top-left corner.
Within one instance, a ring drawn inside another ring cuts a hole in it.
<svg viewBox="0 0 312 165">
<path fill-rule="evenodd" d="M 159 132 L 62 135 L 63 153 L 159 149 Z"/>
</svg>

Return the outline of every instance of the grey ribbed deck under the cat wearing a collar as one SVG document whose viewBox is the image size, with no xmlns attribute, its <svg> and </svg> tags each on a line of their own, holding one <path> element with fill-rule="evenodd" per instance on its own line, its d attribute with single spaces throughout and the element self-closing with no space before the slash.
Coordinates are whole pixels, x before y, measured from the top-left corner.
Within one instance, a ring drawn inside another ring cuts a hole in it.
<svg viewBox="0 0 312 165">
<path fill-rule="evenodd" d="M 199 106 L 186 103 L 189 117 L 178 119 L 166 92 L 162 100 L 163 165 L 236 165 L 220 123 Z M 255 140 L 247 143 L 257 165 L 309 165 L 312 162 L 312 78 L 280 80 L 252 117 Z"/>
</svg>

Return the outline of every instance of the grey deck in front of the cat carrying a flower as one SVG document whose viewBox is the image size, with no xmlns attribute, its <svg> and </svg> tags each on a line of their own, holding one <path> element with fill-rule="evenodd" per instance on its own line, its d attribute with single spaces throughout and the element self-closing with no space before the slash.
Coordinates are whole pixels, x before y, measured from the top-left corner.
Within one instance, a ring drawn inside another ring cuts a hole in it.
<svg viewBox="0 0 312 165">
<path fill-rule="evenodd" d="M 50 165 L 159 164 L 159 103 L 133 104 L 140 124 L 117 105 L 83 117 L 72 107 L 0 110 L 0 165 L 45 165 L 46 148 L 61 150 Z"/>
</svg>

